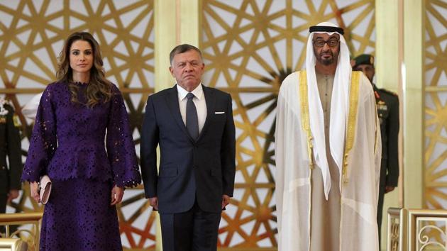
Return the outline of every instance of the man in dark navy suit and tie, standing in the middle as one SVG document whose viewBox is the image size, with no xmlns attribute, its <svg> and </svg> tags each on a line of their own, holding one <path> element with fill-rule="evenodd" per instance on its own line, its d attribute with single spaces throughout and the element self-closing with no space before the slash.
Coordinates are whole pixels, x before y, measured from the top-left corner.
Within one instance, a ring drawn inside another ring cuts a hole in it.
<svg viewBox="0 0 447 251">
<path fill-rule="evenodd" d="M 140 150 L 145 196 L 160 213 L 164 251 L 216 250 L 236 172 L 231 96 L 201 84 L 204 63 L 194 46 L 175 47 L 170 63 L 177 84 L 149 96 L 146 105 Z"/>
</svg>

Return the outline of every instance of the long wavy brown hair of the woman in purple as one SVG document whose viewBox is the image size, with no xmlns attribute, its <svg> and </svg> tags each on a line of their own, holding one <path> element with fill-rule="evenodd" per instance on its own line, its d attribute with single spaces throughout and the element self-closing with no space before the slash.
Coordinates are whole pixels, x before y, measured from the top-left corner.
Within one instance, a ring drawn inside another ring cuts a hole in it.
<svg viewBox="0 0 447 251">
<path fill-rule="evenodd" d="M 87 32 L 76 32 L 72 33 L 67 40 L 65 40 L 64 48 L 58 57 L 58 67 L 56 72 L 57 81 L 67 82 L 68 89 L 72 94 L 71 101 L 73 103 L 79 104 L 79 99 L 77 97 L 79 86 L 73 83 L 73 70 L 70 67 L 70 48 L 72 44 L 77 40 L 87 41 L 93 50 L 93 66 L 90 69 L 90 82 L 87 86 L 86 97 L 87 97 L 87 107 L 92 108 L 100 101 L 106 103 L 110 101 L 111 92 L 111 82 L 106 79 L 106 74 L 104 72 L 101 49 L 99 43 L 93 38 L 92 34 Z"/>
</svg>

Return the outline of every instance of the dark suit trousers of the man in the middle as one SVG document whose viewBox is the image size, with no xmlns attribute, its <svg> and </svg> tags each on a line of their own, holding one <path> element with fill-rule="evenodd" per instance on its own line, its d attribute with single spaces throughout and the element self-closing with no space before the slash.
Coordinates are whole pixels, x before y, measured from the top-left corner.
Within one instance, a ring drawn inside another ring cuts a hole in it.
<svg viewBox="0 0 447 251">
<path fill-rule="evenodd" d="M 189 211 L 160 213 L 163 251 L 216 251 L 221 213 L 202 211 L 194 202 Z"/>
</svg>

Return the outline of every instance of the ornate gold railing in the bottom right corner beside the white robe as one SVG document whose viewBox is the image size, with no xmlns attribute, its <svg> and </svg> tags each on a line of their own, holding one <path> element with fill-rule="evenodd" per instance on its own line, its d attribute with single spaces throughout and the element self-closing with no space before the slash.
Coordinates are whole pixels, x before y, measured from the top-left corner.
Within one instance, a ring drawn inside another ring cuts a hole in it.
<svg viewBox="0 0 447 251">
<path fill-rule="evenodd" d="M 389 208 L 387 251 L 447 251 L 447 210 Z"/>
</svg>

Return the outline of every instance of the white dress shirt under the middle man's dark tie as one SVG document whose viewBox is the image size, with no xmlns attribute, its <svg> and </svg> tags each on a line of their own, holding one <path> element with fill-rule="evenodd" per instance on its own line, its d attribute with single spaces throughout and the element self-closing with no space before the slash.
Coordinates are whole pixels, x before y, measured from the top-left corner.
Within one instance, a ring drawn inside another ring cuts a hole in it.
<svg viewBox="0 0 447 251">
<path fill-rule="evenodd" d="M 188 91 L 183 89 L 183 87 L 180 87 L 180 85 L 177 84 L 177 92 L 179 96 L 180 113 L 182 114 L 183 123 L 184 125 L 186 125 L 186 104 L 188 101 L 186 96 L 188 94 Z M 196 106 L 197 119 L 199 120 L 199 133 L 200 133 L 202 132 L 202 128 L 204 128 L 206 120 L 206 102 L 205 102 L 204 89 L 202 88 L 202 83 L 199 84 L 199 86 L 197 86 L 196 89 L 192 90 L 191 93 L 194 94 L 194 98 L 192 99 L 192 101 Z"/>
</svg>

